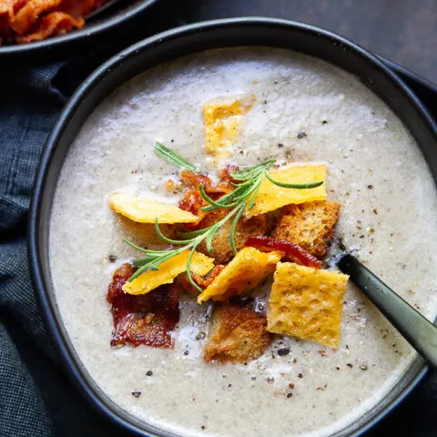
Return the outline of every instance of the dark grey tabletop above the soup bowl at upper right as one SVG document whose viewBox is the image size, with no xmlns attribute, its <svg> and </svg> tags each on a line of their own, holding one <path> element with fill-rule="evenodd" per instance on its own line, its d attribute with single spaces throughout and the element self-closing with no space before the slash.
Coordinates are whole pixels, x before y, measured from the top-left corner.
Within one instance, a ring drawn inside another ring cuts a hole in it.
<svg viewBox="0 0 437 437">
<path fill-rule="evenodd" d="M 436 0 L 173 0 L 187 21 L 266 15 L 319 25 L 437 81 Z"/>
</svg>

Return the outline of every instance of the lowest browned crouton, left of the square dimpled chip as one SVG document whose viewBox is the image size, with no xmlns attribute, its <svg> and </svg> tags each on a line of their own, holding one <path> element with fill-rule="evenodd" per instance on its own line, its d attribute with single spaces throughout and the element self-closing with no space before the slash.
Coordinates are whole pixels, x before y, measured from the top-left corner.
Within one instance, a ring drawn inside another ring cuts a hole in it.
<svg viewBox="0 0 437 437">
<path fill-rule="evenodd" d="M 221 363 L 256 360 L 271 342 L 266 326 L 264 314 L 239 305 L 216 307 L 203 359 Z"/>
</svg>

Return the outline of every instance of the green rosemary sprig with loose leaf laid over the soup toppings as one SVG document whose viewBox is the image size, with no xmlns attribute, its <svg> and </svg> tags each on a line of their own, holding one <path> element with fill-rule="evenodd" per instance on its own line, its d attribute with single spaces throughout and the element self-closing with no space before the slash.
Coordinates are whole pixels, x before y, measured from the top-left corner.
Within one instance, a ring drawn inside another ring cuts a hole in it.
<svg viewBox="0 0 437 437">
<path fill-rule="evenodd" d="M 164 159 L 167 159 L 168 162 L 171 162 L 178 168 L 187 168 L 191 171 L 196 171 L 196 167 L 186 161 L 184 158 L 179 157 L 173 150 L 168 147 L 163 146 L 160 143 L 157 143 L 155 146 L 155 153 Z M 165 241 L 166 243 L 172 246 L 182 246 L 178 249 L 168 249 L 168 250 L 150 250 L 143 249 L 128 239 L 125 239 L 127 244 L 134 249 L 141 250 L 146 254 L 145 258 L 136 259 L 134 261 L 134 265 L 139 267 L 137 271 L 129 278 L 133 280 L 137 278 L 141 273 L 152 269 L 159 269 L 159 265 L 163 262 L 167 261 L 182 253 L 185 250 L 189 250 L 188 262 L 187 262 L 187 276 L 188 280 L 200 292 L 202 291 L 196 282 L 191 277 L 191 262 L 194 256 L 195 250 L 198 248 L 198 245 L 205 241 L 205 245 L 209 253 L 212 252 L 212 240 L 216 235 L 216 232 L 232 217 L 232 224 L 230 227 L 229 233 L 229 244 L 234 252 L 237 253 L 237 248 L 235 246 L 235 232 L 237 229 L 237 225 L 239 223 L 239 219 L 243 215 L 245 210 L 250 210 L 254 207 L 255 201 L 259 192 L 259 188 L 261 187 L 262 182 L 265 178 L 269 179 L 269 181 L 279 187 L 282 188 L 295 188 L 295 189 L 309 189 L 309 188 L 317 188 L 323 184 L 323 181 L 319 182 L 311 182 L 308 184 L 287 184 L 285 182 L 280 182 L 275 180 L 269 176 L 269 168 L 271 168 L 274 164 L 274 159 L 269 159 L 268 161 L 261 162 L 256 166 L 239 168 L 238 171 L 230 172 L 230 176 L 236 180 L 236 183 L 233 183 L 235 189 L 231 191 L 229 194 L 214 200 L 210 198 L 205 191 L 205 188 L 202 184 L 198 186 L 201 197 L 208 203 L 208 206 L 203 207 L 204 211 L 213 211 L 221 208 L 229 208 L 229 213 L 217 223 L 212 226 L 209 226 L 205 229 L 198 229 L 191 232 L 182 232 L 179 233 L 178 236 L 181 239 L 169 239 L 166 237 L 161 229 L 159 229 L 158 219 L 155 221 L 155 229 L 157 231 L 158 237 Z"/>
</svg>

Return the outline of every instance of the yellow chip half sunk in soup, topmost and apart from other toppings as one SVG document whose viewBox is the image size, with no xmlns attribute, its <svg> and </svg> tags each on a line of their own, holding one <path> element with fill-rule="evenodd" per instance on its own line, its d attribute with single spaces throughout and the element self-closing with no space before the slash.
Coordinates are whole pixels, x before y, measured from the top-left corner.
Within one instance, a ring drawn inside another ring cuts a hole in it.
<svg viewBox="0 0 437 437">
<path fill-rule="evenodd" d="M 215 101 L 203 106 L 205 142 L 208 153 L 219 155 L 239 136 L 243 116 L 255 102 L 255 96 Z"/>
</svg>

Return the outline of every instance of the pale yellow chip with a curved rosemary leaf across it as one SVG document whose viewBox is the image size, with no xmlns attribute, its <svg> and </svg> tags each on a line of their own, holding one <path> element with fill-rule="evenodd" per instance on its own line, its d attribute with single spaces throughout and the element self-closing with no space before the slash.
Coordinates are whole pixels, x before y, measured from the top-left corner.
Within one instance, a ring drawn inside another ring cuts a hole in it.
<svg viewBox="0 0 437 437">
<path fill-rule="evenodd" d="M 278 170 L 270 170 L 269 176 L 288 184 L 305 184 L 320 180 L 323 180 L 324 183 L 317 188 L 282 188 L 266 178 L 259 188 L 255 206 L 247 212 L 247 217 L 265 214 L 290 205 L 290 203 L 299 204 L 326 198 L 326 166 L 324 164 L 279 168 Z"/>
</svg>

